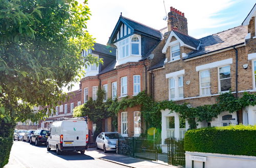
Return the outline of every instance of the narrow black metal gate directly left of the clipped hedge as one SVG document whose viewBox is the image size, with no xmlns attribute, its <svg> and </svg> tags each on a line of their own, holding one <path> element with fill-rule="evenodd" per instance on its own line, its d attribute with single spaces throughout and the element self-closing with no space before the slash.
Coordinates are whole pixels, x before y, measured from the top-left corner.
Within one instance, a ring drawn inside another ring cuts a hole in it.
<svg viewBox="0 0 256 168">
<path fill-rule="evenodd" d="M 185 166 L 183 138 L 167 138 L 168 164 Z"/>
</svg>

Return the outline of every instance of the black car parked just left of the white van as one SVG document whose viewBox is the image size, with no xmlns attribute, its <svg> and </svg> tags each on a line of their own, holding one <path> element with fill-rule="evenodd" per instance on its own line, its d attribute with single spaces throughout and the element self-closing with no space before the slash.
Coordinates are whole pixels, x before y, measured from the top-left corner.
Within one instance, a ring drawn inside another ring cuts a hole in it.
<svg viewBox="0 0 256 168">
<path fill-rule="evenodd" d="M 35 143 L 36 146 L 40 144 L 46 144 L 49 129 L 37 129 L 30 137 L 30 144 Z"/>
</svg>

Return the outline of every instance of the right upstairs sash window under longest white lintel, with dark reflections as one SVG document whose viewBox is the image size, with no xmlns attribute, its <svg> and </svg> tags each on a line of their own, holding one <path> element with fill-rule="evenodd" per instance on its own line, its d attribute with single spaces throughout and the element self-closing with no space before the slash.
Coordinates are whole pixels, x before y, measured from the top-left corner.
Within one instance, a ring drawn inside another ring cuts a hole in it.
<svg viewBox="0 0 256 168">
<path fill-rule="evenodd" d="M 230 88 L 230 65 L 225 67 L 219 67 L 219 92 L 229 91 Z"/>
</svg>

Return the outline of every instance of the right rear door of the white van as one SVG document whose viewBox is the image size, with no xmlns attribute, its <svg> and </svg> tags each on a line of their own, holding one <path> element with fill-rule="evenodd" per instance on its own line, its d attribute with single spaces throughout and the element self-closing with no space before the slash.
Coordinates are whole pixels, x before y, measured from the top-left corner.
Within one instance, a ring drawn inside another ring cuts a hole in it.
<svg viewBox="0 0 256 168">
<path fill-rule="evenodd" d="M 86 121 L 75 122 L 75 146 L 86 146 L 87 124 Z"/>
</svg>

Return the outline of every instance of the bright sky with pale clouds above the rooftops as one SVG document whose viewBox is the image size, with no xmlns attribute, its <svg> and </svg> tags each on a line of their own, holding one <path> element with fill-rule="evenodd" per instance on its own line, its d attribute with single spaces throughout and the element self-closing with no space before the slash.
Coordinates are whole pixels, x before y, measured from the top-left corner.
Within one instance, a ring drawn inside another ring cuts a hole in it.
<svg viewBox="0 0 256 168">
<path fill-rule="evenodd" d="M 83 2 L 83 0 L 78 0 Z M 88 32 L 97 43 L 106 44 L 122 15 L 155 29 L 167 26 L 163 20 L 163 0 L 89 0 L 91 19 Z M 164 0 L 166 12 L 174 7 L 185 13 L 188 34 L 202 38 L 239 26 L 246 18 L 255 0 Z M 79 89 L 78 83 L 72 91 Z M 67 92 L 67 89 L 64 89 Z"/>
</svg>

